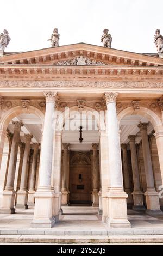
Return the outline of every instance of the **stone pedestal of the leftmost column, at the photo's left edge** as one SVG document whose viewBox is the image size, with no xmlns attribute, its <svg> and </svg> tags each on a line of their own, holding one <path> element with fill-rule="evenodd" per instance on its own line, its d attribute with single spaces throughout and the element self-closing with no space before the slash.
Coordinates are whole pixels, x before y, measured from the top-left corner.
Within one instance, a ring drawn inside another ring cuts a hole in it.
<svg viewBox="0 0 163 256">
<path fill-rule="evenodd" d="M 3 191 L 0 214 L 15 214 L 15 194 L 16 192 L 14 190 Z"/>
</svg>

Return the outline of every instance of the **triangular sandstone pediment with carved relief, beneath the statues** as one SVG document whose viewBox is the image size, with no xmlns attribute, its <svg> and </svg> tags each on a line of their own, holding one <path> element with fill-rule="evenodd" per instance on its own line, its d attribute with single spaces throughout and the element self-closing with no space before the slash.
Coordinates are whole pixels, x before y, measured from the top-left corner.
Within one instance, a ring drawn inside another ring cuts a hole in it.
<svg viewBox="0 0 163 256">
<path fill-rule="evenodd" d="M 0 57 L 0 64 L 48 66 L 162 66 L 163 59 L 152 55 L 80 43 L 7 54 Z"/>
</svg>

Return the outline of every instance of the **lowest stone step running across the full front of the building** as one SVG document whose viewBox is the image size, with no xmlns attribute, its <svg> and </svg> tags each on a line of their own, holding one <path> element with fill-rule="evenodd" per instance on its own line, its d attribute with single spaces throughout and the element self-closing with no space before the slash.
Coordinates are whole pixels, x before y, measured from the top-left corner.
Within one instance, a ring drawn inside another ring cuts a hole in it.
<svg viewBox="0 0 163 256">
<path fill-rule="evenodd" d="M 163 235 L 0 235 L 6 243 L 163 243 Z"/>
</svg>

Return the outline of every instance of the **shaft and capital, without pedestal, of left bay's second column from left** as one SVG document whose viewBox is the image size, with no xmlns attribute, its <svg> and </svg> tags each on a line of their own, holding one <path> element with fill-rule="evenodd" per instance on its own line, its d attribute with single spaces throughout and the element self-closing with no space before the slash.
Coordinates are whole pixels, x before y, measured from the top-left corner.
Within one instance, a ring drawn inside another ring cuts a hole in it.
<svg viewBox="0 0 163 256">
<path fill-rule="evenodd" d="M 28 162 L 28 156 L 29 156 L 29 151 L 30 151 L 30 141 L 33 138 L 33 136 L 30 134 L 27 134 L 24 137 L 26 140 L 26 144 L 25 144 L 24 155 L 23 155 L 20 190 L 26 191 L 27 190 L 27 178 L 28 178 L 27 162 Z"/>
</svg>

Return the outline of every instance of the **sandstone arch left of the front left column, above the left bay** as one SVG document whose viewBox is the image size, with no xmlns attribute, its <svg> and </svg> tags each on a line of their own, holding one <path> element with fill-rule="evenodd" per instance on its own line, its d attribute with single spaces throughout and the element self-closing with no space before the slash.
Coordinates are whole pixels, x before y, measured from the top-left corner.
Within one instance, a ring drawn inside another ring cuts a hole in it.
<svg viewBox="0 0 163 256">
<path fill-rule="evenodd" d="M 0 119 L 0 129 L 7 130 L 8 124 L 11 119 L 14 117 L 17 117 L 21 113 L 27 113 L 27 114 L 35 114 L 37 117 L 39 117 L 42 121 L 42 125 L 44 122 L 45 115 L 40 111 L 40 109 L 34 107 L 34 106 L 28 106 L 28 109 L 22 109 L 22 106 L 16 106 L 14 108 L 9 109 L 7 112 L 5 112 L 1 119 Z"/>
</svg>

